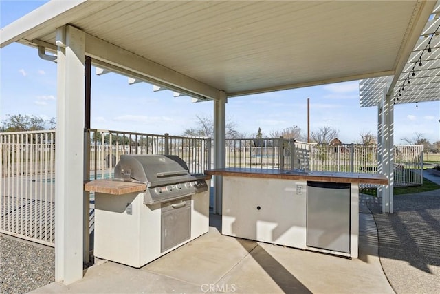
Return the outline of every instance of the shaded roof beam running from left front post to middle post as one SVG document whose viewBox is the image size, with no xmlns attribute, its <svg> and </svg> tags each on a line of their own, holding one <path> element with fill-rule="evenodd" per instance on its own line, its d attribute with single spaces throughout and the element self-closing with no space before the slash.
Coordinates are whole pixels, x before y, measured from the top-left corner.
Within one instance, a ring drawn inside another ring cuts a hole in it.
<svg viewBox="0 0 440 294">
<path fill-rule="evenodd" d="M 219 90 L 201 83 L 200 81 L 185 76 L 168 67 L 159 65 L 142 56 L 124 50 L 91 34 L 86 36 L 86 55 L 92 59 L 117 67 L 119 72 L 138 78 L 147 83 L 164 85 L 170 90 L 188 94 L 188 96 L 201 96 L 210 99 L 219 98 Z M 133 73 L 136 76 L 133 76 Z"/>
</svg>

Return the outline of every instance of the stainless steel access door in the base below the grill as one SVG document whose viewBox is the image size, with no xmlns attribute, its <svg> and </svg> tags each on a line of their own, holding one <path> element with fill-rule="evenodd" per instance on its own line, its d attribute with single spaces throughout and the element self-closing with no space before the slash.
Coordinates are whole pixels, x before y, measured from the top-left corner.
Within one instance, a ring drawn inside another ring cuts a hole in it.
<svg viewBox="0 0 440 294">
<path fill-rule="evenodd" d="M 191 237 L 191 198 L 162 204 L 161 244 L 164 252 Z"/>
</svg>

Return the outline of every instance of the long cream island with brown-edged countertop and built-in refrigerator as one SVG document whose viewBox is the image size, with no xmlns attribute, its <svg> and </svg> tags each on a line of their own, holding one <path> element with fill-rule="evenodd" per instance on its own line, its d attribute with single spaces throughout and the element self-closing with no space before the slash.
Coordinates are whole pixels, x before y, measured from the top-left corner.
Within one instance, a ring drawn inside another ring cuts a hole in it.
<svg viewBox="0 0 440 294">
<path fill-rule="evenodd" d="M 358 258 L 359 184 L 380 174 L 223 168 L 223 235 Z"/>
</svg>

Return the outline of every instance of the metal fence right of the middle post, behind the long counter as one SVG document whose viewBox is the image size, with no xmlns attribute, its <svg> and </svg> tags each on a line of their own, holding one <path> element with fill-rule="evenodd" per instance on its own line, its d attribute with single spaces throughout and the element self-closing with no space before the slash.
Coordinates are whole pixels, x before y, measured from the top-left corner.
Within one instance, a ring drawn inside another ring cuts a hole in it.
<svg viewBox="0 0 440 294">
<path fill-rule="evenodd" d="M 423 184 L 423 146 L 395 145 L 395 186 Z M 226 140 L 226 167 L 377 173 L 377 145 L 327 145 L 284 138 Z"/>
</svg>

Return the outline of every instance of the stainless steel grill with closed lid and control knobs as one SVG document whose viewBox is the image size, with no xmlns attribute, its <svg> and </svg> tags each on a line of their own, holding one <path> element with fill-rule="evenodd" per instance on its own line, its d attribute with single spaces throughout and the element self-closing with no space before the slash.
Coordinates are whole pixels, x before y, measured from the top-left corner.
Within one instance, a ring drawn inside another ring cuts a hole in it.
<svg viewBox="0 0 440 294">
<path fill-rule="evenodd" d="M 192 175 L 179 156 L 122 155 L 115 180 L 146 184 L 144 204 L 170 202 L 208 190 L 206 176 Z"/>
</svg>

